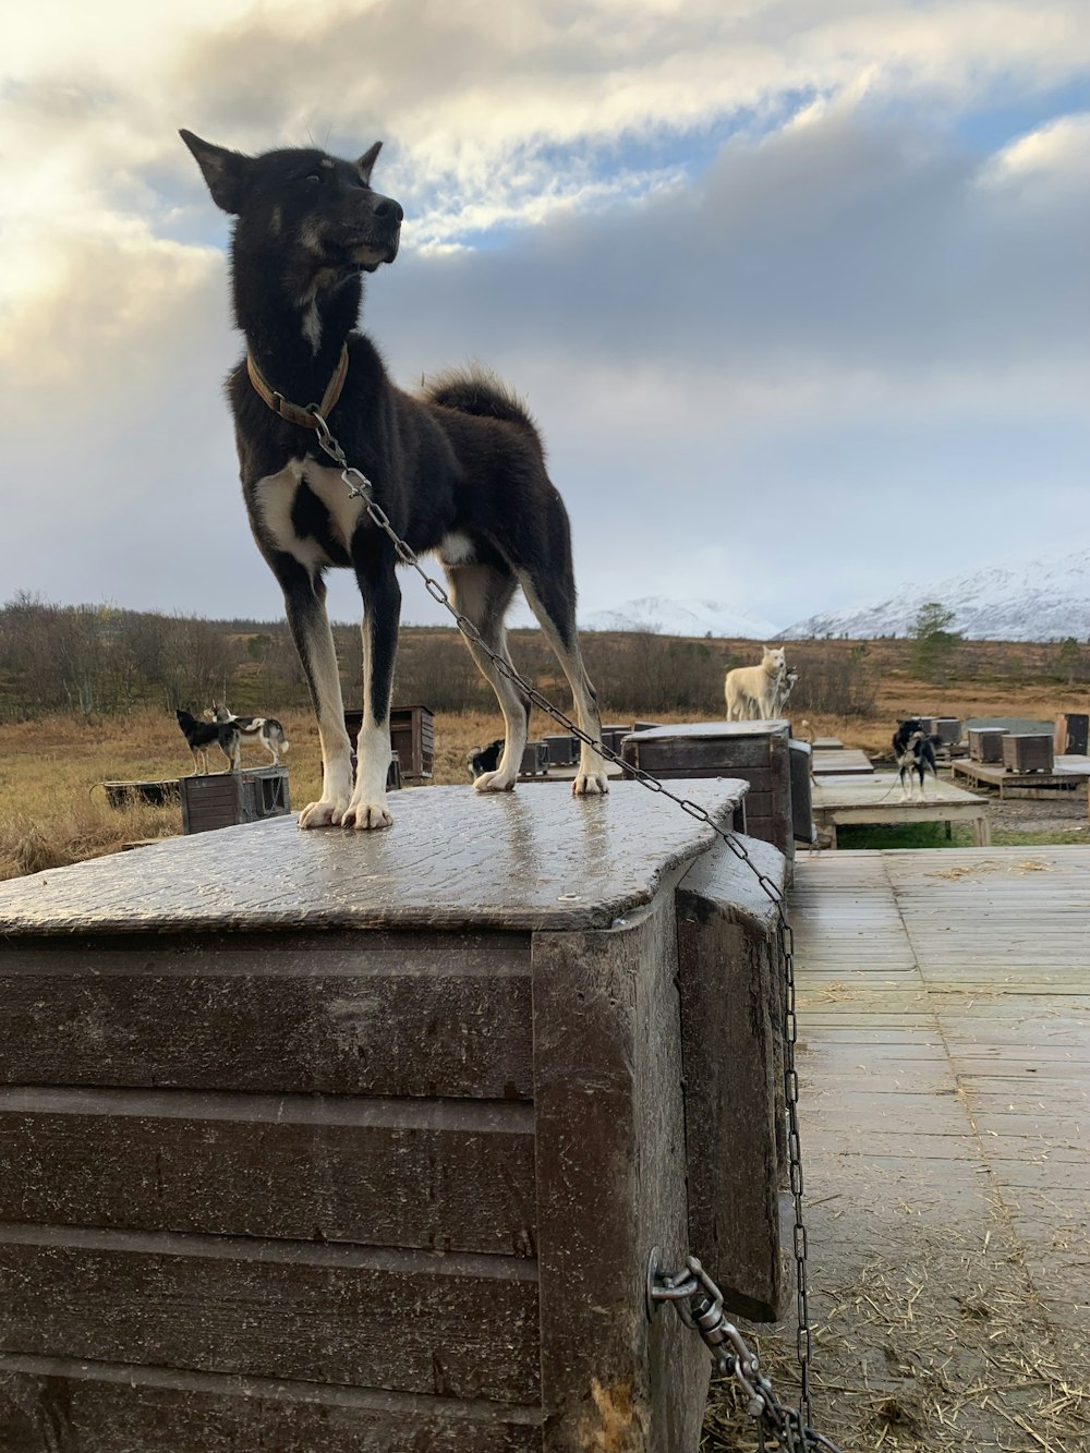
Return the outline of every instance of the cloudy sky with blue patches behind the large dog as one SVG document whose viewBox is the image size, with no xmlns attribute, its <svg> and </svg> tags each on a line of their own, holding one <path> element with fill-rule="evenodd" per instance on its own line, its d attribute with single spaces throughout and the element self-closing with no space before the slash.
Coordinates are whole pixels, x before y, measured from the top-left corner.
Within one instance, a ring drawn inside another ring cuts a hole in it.
<svg viewBox="0 0 1090 1453">
<path fill-rule="evenodd" d="M 365 327 L 528 398 L 587 613 L 1090 543 L 1087 0 L 38 0 L 0 108 L 0 599 L 280 613 L 179 126 L 384 139 Z"/>
</svg>

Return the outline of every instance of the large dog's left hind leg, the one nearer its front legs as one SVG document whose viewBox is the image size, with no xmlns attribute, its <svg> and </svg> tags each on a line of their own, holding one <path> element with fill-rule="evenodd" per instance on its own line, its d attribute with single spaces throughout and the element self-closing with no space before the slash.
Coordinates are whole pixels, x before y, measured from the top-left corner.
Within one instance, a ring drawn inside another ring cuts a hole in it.
<svg viewBox="0 0 1090 1453">
<path fill-rule="evenodd" d="M 477 792 L 509 792 L 514 786 L 522 767 L 522 756 L 529 732 L 530 703 L 519 687 L 503 674 L 488 655 L 493 651 L 512 665 L 507 649 L 507 634 L 503 618 L 516 591 L 514 577 L 506 570 L 491 565 L 446 565 L 446 580 L 451 586 L 451 600 L 455 609 L 467 616 L 481 634 L 487 651 L 469 636 L 465 644 L 477 663 L 481 676 L 496 692 L 503 712 L 504 742 L 503 756 L 494 772 L 483 772 L 474 779 Z"/>
</svg>

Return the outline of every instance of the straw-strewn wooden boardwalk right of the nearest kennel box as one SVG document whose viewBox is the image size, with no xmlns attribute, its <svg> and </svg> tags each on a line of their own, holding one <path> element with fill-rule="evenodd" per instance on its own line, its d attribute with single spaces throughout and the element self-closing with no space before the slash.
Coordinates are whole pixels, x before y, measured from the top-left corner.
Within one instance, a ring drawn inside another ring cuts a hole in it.
<svg viewBox="0 0 1090 1453">
<path fill-rule="evenodd" d="M 801 854 L 791 904 L 818 1424 L 1090 1447 L 1090 849 Z"/>
</svg>

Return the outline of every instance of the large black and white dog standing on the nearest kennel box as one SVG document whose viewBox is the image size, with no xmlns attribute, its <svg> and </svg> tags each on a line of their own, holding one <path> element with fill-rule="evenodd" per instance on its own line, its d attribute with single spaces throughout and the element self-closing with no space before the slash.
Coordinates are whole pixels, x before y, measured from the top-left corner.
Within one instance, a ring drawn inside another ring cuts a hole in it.
<svg viewBox="0 0 1090 1453">
<path fill-rule="evenodd" d="M 282 590 L 321 737 L 321 798 L 299 827 L 387 827 L 389 695 L 401 590 L 391 539 L 330 465 L 312 408 L 349 465 L 413 551 L 435 551 L 455 607 L 507 663 L 504 613 L 522 587 L 576 700 L 600 740 L 597 699 L 576 636 L 568 516 L 545 469 L 525 407 L 490 375 L 451 373 L 408 395 L 356 331 L 362 273 L 397 257 L 401 206 L 371 187 L 375 142 L 358 161 L 318 150 L 246 157 L 189 131 L 182 139 L 214 202 L 237 218 L 231 244 L 235 323 L 247 356 L 227 382 L 243 494 L 257 546 Z M 320 400 L 315 405 L 312 401 Z M 346 567 L 363 597 L 363 725 L 352 777 L 340 680 L 326 615 L 324 574 Z M 485 651 L 469 651 L 491 683 L 506 747 L 478 792 L 514 786 L 529 702 Z M 606 792 L 600 754 L 581 748 L 577 793 Z"/>
</svg>

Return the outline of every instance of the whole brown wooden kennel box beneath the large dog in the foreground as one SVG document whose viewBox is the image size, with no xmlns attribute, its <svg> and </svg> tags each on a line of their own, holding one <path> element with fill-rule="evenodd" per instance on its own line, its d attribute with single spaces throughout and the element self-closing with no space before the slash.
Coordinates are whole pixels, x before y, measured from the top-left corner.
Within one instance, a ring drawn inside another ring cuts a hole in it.
<svg viewBox="0 0 1090 1453">
<path fill-rule="evenodd" d="M 692 1453 L 653 1248 L 780 1311 L 776 911 L 637 783 L 154 843 L 0 931 L 3 1449 Z"/>
</svg>

